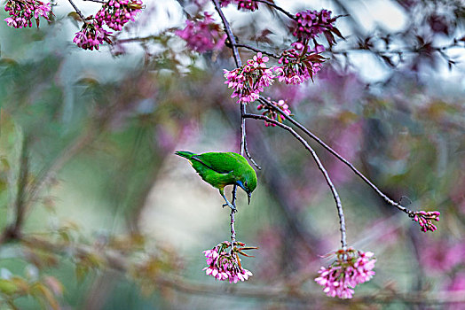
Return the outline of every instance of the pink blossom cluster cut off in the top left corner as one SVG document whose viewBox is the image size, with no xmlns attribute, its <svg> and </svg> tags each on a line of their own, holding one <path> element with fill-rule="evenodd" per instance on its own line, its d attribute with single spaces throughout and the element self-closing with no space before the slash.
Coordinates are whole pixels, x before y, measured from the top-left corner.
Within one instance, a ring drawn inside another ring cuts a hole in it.
<svg viewBox="0 0 465 310">
<path fill-rule="evenodd" d="M 39 26 L 39 17 L 49 19 L 51 14 L 51 5 L 43 4 L 38 0 L 10 0 L 4 5 L 4 11 L 10 14 L 10 17 L 4 19 L 6 24 L 13 28 L 32 27 L 32 19 L 35 19 L 37 27 Z"/>
</svg>

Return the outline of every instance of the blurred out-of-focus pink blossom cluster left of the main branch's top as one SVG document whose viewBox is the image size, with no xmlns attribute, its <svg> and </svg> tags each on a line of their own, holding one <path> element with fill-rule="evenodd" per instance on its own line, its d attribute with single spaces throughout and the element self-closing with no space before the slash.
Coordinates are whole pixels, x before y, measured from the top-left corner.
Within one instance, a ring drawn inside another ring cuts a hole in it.
<svg viewBox="0 0 465 310">
<path fill-rule="evenodd" d="M 198 52 L 220 50 L 225 43 L 226 35 L 215 23 L 211 14 L 204 12 L 204 15 L 203 19 L 196 21 L 185 20 L 186 27 L 183 30 L 177 30 L 176 35 L 183 38 L 191 50 Z"/>
</svg>

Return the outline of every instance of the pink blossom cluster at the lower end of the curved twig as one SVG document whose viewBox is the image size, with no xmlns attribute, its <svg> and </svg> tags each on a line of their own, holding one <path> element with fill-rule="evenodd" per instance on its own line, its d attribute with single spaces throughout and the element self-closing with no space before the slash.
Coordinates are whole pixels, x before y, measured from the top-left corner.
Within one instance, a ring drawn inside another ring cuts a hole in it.
<svg viewBox="0 0 465 310">
<path fill-rule="evenodd" d="M 335 252 L 335 262 L 319 270 L 316 283 L 323 286 L 329 297 L 352 298 L 357 284 L 366 283 L 374 275 L 373 252 L 361 252 L 352 248 Z"/>
</svg>

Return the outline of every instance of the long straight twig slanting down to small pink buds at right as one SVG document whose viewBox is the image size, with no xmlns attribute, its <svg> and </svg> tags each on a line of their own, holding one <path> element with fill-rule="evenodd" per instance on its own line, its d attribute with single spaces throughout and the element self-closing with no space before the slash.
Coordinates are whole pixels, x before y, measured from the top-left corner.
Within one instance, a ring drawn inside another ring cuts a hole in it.
<svg viewBox="0 0 465 310">
<path fill-rule="evenodd" d="M 284 111 L 282 111 L 280 109 L 279 106 L 277 105 L 273 105 L 272 102 L 270 100 L 267 100 L 266 98 L 264 97 L 260 97 L 258 99 L 261 103 L 265 104 L 265 105 L 268 105 L 268 106 L 271 106 L 272 108 L 274 108 L 276 111 L 280 112 L 282 115 L 285 115 Z M 366 184 L 368 184 L 374 191 L 376 191 L 376 193 L 381 196 L 384 201 L 386 201 L 388 204 L 390 205 L 393 205 L 395 207 L 398 208 L 398 210 L 408 214 L 408 216 L 410 217 L 414 217 L 414 212 L 412 210 L 409 210 L 407 209 L 405 206 L 403 205 L 400 205 L 398 202 L 390 199 L 389 197 L 387 197 L 380 189 L 378 189 L 376 187 L 376 185 L 374 185 L 373 182 L 371 182 L 370 180 L 368 180 L 368 178 L 362 174 L 361 172 L 359 172 L 359 170 L 354 167 L 351 162 L 347 159 L 344 159 L 343 156 L 341 156 L 337 151 L 333 150 L 329 145 L 327 145 L 327 143 L 324 143 L 318 136 L 315 136 L 314 134 L 311 133 L 311 131 L 307 128 L 305 128 L 301 123 L 299 123 L 298 121 L 294 120 L 292 117 L 290 116 L 286 116 L 286 120 L 288 120 L 289 122 L 291 122 L 293 125 L 296 126 L 296 128 L 299 128 L 301 129 L 307 136 L 310 136 L 311 139 L 315 140 L 317 143 L 319 143 L 319 145 L 321 145 L 325 150 L 329 151 L 331 154 L 333 154 L 337 159 L 341 160 L 345 165 L 347 165 L 348 167 L 351 168 L 351 170 L 354 172 L 354 174 L 357 174 L 364 182 L 366 182 Z"/>
</svg>

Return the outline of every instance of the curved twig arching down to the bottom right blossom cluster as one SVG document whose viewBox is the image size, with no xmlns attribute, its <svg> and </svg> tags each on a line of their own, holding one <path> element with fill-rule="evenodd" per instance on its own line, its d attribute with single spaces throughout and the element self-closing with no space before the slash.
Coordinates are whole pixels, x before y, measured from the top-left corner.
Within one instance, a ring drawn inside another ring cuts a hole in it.
<svg viewBox="0 0 465 310">
<path fill-rule="evenodd" d="M 323 164 L 319 160 L 319 157 L 318 157 L 317 153 L 311 148 L 309 143 L 307 143 L 307 141 L 305 139 L 303 139 L 302 136 L 300 136 L 299 134 L 296 133 L 296 130 L 294 130 L 293 128 L 288 127 L 288 125 L 284 125 L 283 123 L 280 123 L 278 120 L 272 120 L 269 117 L 266 117 L 264 115 L 257 115 L 257 114 L 245 114 L 244 118 L 254 119 L 254 120 L 264 120 L 264 121 L 272 123 L 272 124 L 274 124 L 276 126 L 279 126 L 280 128 L 288 130 L 288 132 L 290 132 L 292 136 L 295 136 L 296 139 L 300 143 L 303 144 L 303 146 L 305 147 L 305 149 L 307 149 L 307 151 L 310 151 L 311 156 L 313 157 L 313 159 L 317 163 L 319 171 L 321 171 L 321 173 L 324 175 L 325 180 L 327 182 L 327 185 L 329 186 L 329 188 L 331 189 L 331 192 L 333 193 L 333 198 L 335 198 L 335 206 L 336 206 L 336 209 L 337 209 L 337 213 L 339 215 L 339 224 L 340 224 L 340 229 L 341 229 L 341 244 L 343 246 L 343 250 L 346 250 L 347 249 L 347 241 L 346 241 L 346 236 L 345 236 L 345 220 L 344 220 L 343 205 L 341 203 L 341 198 L 339 198 L 339 194 L 337 193 L 337 190 L 335 189 L 335 185 L 333 184 L 333 182 L 331 181 L 331 178 L 327 174 L 326 168 L 323 166 Z"/>
</svg>

